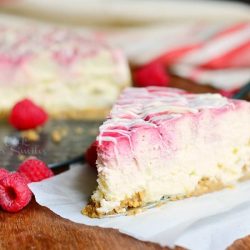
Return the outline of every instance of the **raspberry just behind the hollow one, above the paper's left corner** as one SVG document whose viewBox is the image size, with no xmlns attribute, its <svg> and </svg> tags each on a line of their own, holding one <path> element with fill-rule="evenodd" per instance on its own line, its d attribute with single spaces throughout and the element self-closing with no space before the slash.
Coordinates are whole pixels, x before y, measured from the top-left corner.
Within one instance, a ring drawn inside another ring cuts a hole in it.
<svg viewBox="0 0 250 250">
<path fill-rule="evenodd" d="M 41 181 L 54 175 L 43 161 L 36 158 L 29 158 L 24 161 L 17 171 L 31 182 Z"/>
</svg>

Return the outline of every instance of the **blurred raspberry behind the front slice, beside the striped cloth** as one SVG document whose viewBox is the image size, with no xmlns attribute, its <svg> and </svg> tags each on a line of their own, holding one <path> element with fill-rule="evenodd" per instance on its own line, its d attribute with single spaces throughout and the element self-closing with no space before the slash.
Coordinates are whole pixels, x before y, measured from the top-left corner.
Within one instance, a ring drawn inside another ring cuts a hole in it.
<svg viewBox="0 0 250 250">
<path fill-rule="evenodd" d="M 159 63 L 151 63 L 138 68 L 134 72 L 134 82 L 138 87 L 165 87 L 169 82 L 169 76 L 164 68 L 164 65 Z"/>
</svg>

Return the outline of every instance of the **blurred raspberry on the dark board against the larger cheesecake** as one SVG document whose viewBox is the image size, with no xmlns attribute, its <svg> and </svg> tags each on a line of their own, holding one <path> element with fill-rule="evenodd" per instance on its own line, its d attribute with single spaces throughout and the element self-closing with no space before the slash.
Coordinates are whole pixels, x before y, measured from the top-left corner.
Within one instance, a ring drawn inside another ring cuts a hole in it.
<svg viewBox="0 0 250 250">
<path fill-rule="evenodd" d="M 48 119 L 47 113 L 29 99 L 24 99 L 12 108 L 9 122 L 18 130 L 33 129 L 43 125 Z"/>
</svg>

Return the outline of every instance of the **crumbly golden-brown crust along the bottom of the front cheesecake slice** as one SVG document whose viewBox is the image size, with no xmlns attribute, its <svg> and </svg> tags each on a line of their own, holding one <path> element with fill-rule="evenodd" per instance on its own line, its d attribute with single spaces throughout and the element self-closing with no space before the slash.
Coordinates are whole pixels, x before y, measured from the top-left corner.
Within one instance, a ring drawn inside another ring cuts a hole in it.
<svg viewBox="0 0 250 250">
<path fill-rule="evenodd" d="M 208 177 L 204 177 L 198 182 L 198 185 L 192 192 L 186 193 L 183 195 L 172 196 L 169 200 L 176 201 L 176 200 L 181 200 L 181 199 L 185 199 L 189 197 L 197 197 L 206 193 L 219 191 L 224 188 L 232 188 L 232 185 L 225 185 L 218 179 L 210 179 Z M 114 214 L 122 213 L 124 212 L 124 209 L 128 210 L 128 213 L 126 213 L 127 215 L 136 214 L 144 210 L 144 209 L 140 209 L 140 208 L 143 208 L 144 205 L 146 205 L 143 202 L 143 198 L 144 198 L 144 192 L 135 193 L 131 198 L 127 198 L 123 200 L 119 207 L 113 209 L 109 213 L 98 212 L 97 209 L 100 208 L 100 203 L 91 200 L 89 204 L 85 208 L 83 208 L 82 214 L 87 215 L 91 218 L 102 218 L 107 215 L 114 215 Z M 164 204 L 164 202 L 158 201 L 158 204 L 162 205 Z M 129 209 L 131 208 L 132 208 L 132 213 L 129 212 Z"/>
</svg>

